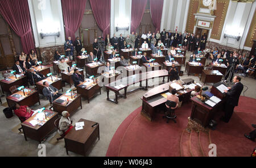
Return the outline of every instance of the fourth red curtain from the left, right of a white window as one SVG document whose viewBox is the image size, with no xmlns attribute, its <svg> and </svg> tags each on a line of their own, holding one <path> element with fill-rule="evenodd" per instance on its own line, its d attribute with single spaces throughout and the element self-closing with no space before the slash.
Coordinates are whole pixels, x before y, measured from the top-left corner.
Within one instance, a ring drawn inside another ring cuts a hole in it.
<svg viewBox="0 0 256 168">
<path fill-rule="evenodd" d="M 131 32 L 136 32 L 139 27 L 146 5 L 147 0 L 133 0 L 131 2 Z"/>
</svg>

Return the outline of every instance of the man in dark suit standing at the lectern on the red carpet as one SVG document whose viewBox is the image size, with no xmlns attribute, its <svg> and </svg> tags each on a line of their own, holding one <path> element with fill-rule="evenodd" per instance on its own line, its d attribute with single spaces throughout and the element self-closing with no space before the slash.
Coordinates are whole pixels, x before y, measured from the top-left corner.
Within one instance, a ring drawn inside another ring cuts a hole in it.
<svg viewBox="0 0 256 168">
<path fill-rule="evenodd" d="M 220 119 L 225 123 L 229 122 L 233 114 L 234 107 L 238 106 L 239 97 L 243 90 L 241 77 L 235 76 L 233 78 L 233 82 L 235 83 L 234 86 L 228 87 L 229 90 L 225 90 L 225 93 L 226 93 L 225 115 L 222 116 Z"/>
</svg>

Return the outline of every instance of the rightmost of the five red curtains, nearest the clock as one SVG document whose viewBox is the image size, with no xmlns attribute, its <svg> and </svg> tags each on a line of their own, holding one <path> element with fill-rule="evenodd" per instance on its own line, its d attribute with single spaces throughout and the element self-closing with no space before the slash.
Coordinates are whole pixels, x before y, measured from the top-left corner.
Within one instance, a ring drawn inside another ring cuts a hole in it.
<svg viewBox="0 0 256 168">
<path fill-rule="evenodd" d="M 163 0 L 150 0 L 150 12 L 152 22 L 156 28 L 155 31 L 160 31 L 163 12 Z"/>
</svg>

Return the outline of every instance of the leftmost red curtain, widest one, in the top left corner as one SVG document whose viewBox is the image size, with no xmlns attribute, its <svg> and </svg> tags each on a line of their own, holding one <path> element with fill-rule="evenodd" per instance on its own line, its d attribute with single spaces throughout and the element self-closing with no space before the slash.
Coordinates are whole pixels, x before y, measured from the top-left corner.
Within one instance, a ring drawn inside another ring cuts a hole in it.
<svg viewBox="0 0 256 168">
<path fill-rule="evenodd" d="M 14 32 L 20 36 L 23 51 L 28 54 L 31 49 L 35 49 L 27 0 L 0 0 L 0 12 Z"/>
</svg>

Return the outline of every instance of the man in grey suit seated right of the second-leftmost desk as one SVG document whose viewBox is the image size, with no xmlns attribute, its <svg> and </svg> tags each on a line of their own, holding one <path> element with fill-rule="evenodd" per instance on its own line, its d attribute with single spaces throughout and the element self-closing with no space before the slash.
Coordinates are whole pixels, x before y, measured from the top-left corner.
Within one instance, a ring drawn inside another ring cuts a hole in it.
<svg viewBox="0 0 256 168">
<path fill-rule="evenodd" d="M 61 96 L 61 94 L 59 94 L 59 90 L 57 90 L 52 85 L 49 85 L 48 82 L 43 82 L 43 85 L 43 95 L 46 96 L 48 100 L 52 100 L 53 102 L 54 100 L 59 98 L 59 96 Z"/>
</svg>

